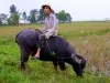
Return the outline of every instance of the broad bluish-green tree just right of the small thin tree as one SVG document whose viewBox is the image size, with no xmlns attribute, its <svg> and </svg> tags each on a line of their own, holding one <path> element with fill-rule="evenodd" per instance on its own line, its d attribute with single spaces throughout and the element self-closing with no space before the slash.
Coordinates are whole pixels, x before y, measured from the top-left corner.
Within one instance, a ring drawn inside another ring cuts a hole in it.
<svg viewBox="0 0 110 83">
<path fill-rule="evenodd" d="M 31 10 L 31 11 L 30 11 L 30 15 L 28 17 L 28 20 L 29 20 L 31 23 L 37 22 L 37 14 L 38 14 L 37 9 Z"/>
</svg>

